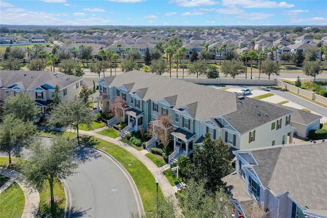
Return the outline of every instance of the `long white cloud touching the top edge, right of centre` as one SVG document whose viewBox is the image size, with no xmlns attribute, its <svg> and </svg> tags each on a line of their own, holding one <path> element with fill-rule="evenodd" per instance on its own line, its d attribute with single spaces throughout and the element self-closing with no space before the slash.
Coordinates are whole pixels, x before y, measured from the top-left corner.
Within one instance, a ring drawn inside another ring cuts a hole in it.
<svg viewBox="0 0 327 218">
<path fill-rule="evenodd" d="M 286 2 L 270 2 L 263 0 L 222 0 L 222 5 L 227 7 L 243 7 L 243 8 L 292 8 L 293 4 Z"/>
</svg>

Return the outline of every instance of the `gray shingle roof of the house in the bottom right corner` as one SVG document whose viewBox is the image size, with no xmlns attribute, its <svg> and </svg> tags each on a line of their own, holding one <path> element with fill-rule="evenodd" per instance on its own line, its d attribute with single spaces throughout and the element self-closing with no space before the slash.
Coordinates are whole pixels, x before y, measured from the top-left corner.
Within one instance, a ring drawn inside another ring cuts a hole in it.
<svg viewBox="0 0 327 218">
<path fill-rule="evenodd" d="M 327 143 L 299 143 L 253 149 L 253 166 L 265 188 L 279 194 L 285 190 L 301 207 L 327 212 Z"/>
</svg>

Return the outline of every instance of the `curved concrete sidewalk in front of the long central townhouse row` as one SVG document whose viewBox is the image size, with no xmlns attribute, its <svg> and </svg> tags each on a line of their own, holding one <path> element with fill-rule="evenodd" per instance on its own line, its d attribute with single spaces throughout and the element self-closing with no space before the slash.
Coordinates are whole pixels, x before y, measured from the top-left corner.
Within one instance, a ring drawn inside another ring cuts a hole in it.
<svg viewBox="0 0 327 218">
<path fill-rule="evenodd" d="M 75 129 L 67 129 L 67 131 L 76 133 Z M 103 139 L 105 141 L 119 145 L 125 150 L 127 150 L 128 152 L 130 152 L 135 158 L 137 158 L 147 167 L 147 169 L 151 172 L 154 178 L 159 178 L 159 186 L 162 191 L 162 194 L 164 194 L 166 198 L 169 197 L 170 195 L 173 195 L 175 198 L 175 190 L 173 186 L 170 184 L 170 182 L 168 181 L 168 179 L 164 176 L 161 168 L 155 165 L 147 156 L 144 155 L 142 151 L 139 151 L 133 148 L 132 146 L 120 141 L 121 137 L 113 139 L 108 136 L 98 134 L 96 132 L 98 132 L 98 130 L 92 130 L 92 131 L 79 130 L 80 134 L 94 136 L 99 139 Z M 155 183 L 154 179 L 153 179 L 153 183 Z"/>
</svg>

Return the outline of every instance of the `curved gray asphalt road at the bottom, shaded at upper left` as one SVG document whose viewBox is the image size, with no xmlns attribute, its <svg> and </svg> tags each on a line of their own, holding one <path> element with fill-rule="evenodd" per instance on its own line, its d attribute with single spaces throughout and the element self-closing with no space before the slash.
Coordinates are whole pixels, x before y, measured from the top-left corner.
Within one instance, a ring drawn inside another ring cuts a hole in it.
<svg viewBox="0 0 327 218">
<path fill-rule="evenodd" d="M 135 188 L 126 172 L 109 156 L 84 146 L 78 151 L 83 163 L 68 177 L 71 217 L 130 217 L 138 214 Z M 138 192 L 137 192 L 138 193 Z"/>
</svg>

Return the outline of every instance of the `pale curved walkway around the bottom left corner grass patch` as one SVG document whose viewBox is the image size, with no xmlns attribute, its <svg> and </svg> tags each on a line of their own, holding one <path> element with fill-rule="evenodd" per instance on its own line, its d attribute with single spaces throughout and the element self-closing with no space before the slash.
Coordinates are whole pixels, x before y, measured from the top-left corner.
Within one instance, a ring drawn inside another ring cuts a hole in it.
<svg viewBox="0 0 327 218">
<path fill-rule="evenodd" d="M 0 167 L 0 175 L 4 175 L 6 177 L 11 178 L 7 183 L 5 183 L 0 188 L 0 193 L 2 193 L 6 188 L 8 188 L 13 182 L 16 182 L 25 195 L 25 207 L 22 212 L 22 218 L 32 218 L 36 217 L 37 211 L 40 205 L 40 195 L 36 190 L 31 191 L 28 186 L 22 181 L 22 175 L 12 169 L 7 169 Z"/>
</svg>

